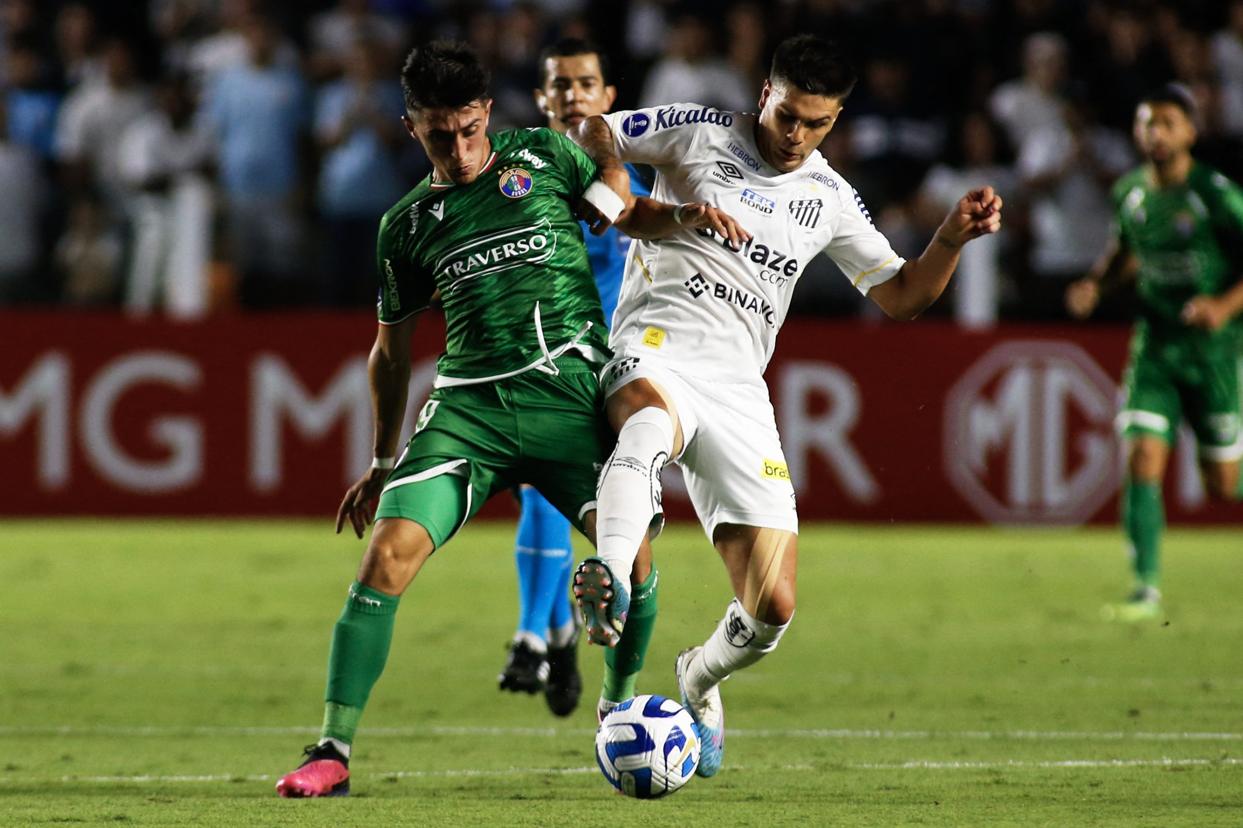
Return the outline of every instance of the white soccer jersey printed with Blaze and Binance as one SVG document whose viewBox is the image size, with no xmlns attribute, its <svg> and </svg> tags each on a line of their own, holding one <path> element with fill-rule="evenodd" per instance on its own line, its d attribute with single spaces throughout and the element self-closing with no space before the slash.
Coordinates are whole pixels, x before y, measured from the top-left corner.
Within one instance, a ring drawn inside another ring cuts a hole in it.
<svg viewBox="0 0 1243 828">
<path fill-rule="evenodd" d="M 793 173 L 766 164 L 757 116 L 675 103 L 605 118 L 622 160 L 656 169 L 654 199 L 712 205 L 755 236 L 741 250 L 712 230 L 631 242 L 610 337 L 619 356 L 756 382 L 813 256 L 828 254 L 864 295 L 905 261 L 819 152 Z"/>
</svg>

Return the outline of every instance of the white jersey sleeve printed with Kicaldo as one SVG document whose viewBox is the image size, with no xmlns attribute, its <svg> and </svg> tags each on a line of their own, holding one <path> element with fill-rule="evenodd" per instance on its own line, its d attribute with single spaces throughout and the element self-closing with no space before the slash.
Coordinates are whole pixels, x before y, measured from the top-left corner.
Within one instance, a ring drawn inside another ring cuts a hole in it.
<svg viewBox="0 0 1243 828">
<path fill-rule="evenodd" d="M 625 163 L 670 167 L 680 164 L 702 124 L 728 127 L 733 113 L 696 103 L 674 103 L 648 109 L 624 109 L 604 116 L 613 131 L 613 147 Z"/>
</svg>

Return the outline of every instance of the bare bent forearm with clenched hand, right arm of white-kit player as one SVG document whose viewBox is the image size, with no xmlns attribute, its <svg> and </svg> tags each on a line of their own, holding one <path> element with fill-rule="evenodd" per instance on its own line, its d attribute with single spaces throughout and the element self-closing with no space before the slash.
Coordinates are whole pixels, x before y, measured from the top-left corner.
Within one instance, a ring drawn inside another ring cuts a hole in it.
<svg viewBox="0 0 1243 828">
<path fill-rule="evenodd" d="M 907 261 L 897 275 L 869 291 L 880 308 L 895 320 L 914 320 L 927 310 L 950 283 L 962 245 L 997 232 L 1002 226 L 1002 196 L 991 186 L 967 193 L 945 218 L 924 254 Z"/>
</svg>

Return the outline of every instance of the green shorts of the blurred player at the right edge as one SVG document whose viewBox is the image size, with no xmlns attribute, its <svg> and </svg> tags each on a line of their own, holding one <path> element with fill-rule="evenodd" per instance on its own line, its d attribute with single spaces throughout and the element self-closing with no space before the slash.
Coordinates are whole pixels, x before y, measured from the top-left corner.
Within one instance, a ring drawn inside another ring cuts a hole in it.
<svg viewBox="0 0 1243 828">
<path fill-rule="evenodd" d="M 1217 462 L 1243 458 L 1241 372 L 1243 362 L 1232 341 L 1139 332 L 1124 375 L 1126 403 L 1117 415 L 1122 435 L 1156 435 L 1172 445 L 1186 418 L 1201 458 Z"/>
</svg>

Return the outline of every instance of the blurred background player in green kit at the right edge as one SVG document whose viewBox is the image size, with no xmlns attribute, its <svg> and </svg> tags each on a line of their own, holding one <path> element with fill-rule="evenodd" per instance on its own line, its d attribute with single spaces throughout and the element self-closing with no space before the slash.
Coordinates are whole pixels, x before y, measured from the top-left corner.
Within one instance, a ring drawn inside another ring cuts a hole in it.
<svg viewBox="0 0 1243 828">
<path fill-rule="evenodd" d="M 1135 592 L 1105 608 L 1108 618 L 1129 622 L 1162 614 L 1161 481 L 1180 423 L 1186 419 L 1196 433 L 1212 497 L 1241 497 L 1243 456 L 1243 189 L 1192 158 L 1193 104 L 1181 87 L 1167 86 L 1140 102 L 1135 140 L 1146 160 L 1114 185 L 1115 241 L 1066 292 L 1066 306 L 1079 318 L 1124 281 L 1135 280 L 1140 298 L 1119 414 L 1127 446 L 1121 513 Z"/>
</svg>

